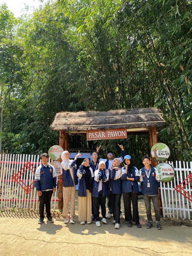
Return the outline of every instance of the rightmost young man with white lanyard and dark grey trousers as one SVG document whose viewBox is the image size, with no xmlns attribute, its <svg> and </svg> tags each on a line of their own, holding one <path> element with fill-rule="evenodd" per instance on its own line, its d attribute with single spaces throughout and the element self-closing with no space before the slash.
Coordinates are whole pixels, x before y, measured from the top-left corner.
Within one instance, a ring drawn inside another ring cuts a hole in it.
<svg viewBox="0 0 192 256">
<path fill-rule="evenodd" d="M 153 202 L 153 207 L 155 209 L 155 219 L 157 224 L 157 229 L 161 228 L 160 223 L 160 209 L 159 209 L 159 197 L 158 197 L 158 187 L 160 185 L 160 178 L 158 170 L 150 166 L 150 157 L 145 155 L 142 157 L 142 162 L 144 167 L 140 169 L 140 182 L 142 186 L 143 198 L 145 201 L 146 214 L 147 214 L 147 228 L 151 228 L 153 225 L 152 215 L 151 215 L 151 200 Z"/>
</svg>

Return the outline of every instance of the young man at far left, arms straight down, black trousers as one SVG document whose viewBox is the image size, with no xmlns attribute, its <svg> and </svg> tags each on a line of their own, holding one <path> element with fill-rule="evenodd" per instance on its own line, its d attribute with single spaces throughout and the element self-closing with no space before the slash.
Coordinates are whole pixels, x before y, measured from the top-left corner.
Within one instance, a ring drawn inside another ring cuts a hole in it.
<svg viewBox="0 0 192 256">
<path fill-rule="evenodd" d="M 46 218 L 49 222 L 54 222 L 51 217 L 51 197 L 56 191 L 56 180 L 57 175 L 55 168 L 48 164 L 49 155 L 42 153 L 40 155 L 42 164 L 37 168 L 35 172 L 34 186 L 37 189 L 39 196 L 39 224 L 43 223 L 44 220 L 44 206 L 46 211 Z"/>
</svg>

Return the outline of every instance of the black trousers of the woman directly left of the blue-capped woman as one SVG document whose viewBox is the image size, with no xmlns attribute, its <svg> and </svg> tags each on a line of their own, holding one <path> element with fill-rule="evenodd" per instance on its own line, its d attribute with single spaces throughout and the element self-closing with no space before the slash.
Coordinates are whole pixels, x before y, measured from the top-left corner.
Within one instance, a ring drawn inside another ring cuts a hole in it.
<svg viewBox="0 0 192 256">
<path fill-rule="evenodd" d="M 122 194 L 110 194 L 113 218 L 115 223 L 118 224 L 120 224 L 121 195 Z"/>
</svg>

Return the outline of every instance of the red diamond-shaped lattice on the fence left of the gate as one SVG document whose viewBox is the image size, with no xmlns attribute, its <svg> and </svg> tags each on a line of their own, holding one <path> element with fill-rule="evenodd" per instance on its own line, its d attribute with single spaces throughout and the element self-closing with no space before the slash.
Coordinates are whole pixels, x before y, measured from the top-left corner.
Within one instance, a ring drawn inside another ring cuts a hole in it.
<svg viewBox="0 0 192 256">
<path fill-rule="evenodd" d="M 20 179 L 20 176 L 26 172 L 26 170 L 30 169 L 32 170 L 32 172 L 35 174 L 35 172 L 33 171 L 36 170 L 35 167 L 32 166 L 33 163 L 31 163 L 31 161 L 27 162 L 25 164 L 25 166 L 18 172 L 18 173 L 15 173 L 14 175 L 12 175 L 11 177 L 13 178 L 12 181 L 16 181 L 17 183 L 19 183 L 19 185 L 26 191 L 26 194 L 29 194 L 29 191 L 32 191 L 32 189 L 34 188 L 34 185 L 32 186 L 32 184 L 35 182 L 35 180 L 29 185 L 27 186 L 21 179 Z M 27 168 L 26 168 L 27 167 Z M 32 167 L 32 168 L 31 168 Z M 22 170 L 25 169 L 23 172 Z M 22 173 L 20 173 L 22 172 Z M 20 173 L 20 174 L 19 174 Z M 22 185 L 23 184 L 23 185 Z M 32 187 L 31 187 L 32 186 Z M 31 188 L 30 188 L 31 187 Z"/>
</svg>

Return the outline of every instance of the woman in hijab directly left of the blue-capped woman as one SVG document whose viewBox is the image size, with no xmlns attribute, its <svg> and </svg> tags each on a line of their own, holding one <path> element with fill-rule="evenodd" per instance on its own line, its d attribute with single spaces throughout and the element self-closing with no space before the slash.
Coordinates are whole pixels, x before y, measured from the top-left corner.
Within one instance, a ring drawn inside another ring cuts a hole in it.
<svg viewBox="0 0 192 256">
<path fill-rule="evenodd" d="M 108 193 L 110 195 L 112 212 L 113 212 L 113 224 L 115 228 L 119 229 L 120 224 L 120 209 L 121 209 L 121 195 L 122 195 L 122 178 L 121 178 L 121 168 L 119 165 L 121 161 L 119 158 L 113 159 L 112 166 L 109 170 L 109 183 L 108 183 Z"/>
</svg>

